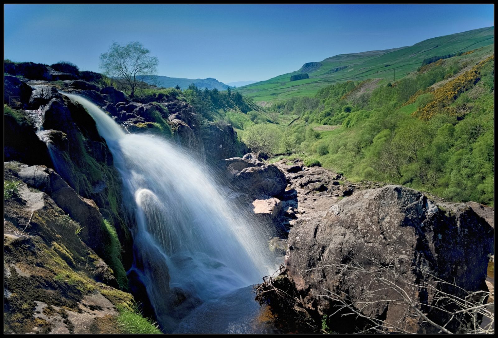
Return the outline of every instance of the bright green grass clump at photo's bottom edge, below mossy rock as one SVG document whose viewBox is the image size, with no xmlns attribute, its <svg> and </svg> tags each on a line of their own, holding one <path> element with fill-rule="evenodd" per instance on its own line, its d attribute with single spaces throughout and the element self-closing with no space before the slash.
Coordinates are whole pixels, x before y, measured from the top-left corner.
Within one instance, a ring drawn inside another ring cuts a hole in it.
<svg viewBox="0 0 498 338">
<path fill-rule="evenodd" d="M 117 305 L 120 315 L 118 326 L 126 334 L 161 334 L 157 323 L 144 318 L 136 306 L 131 309 L 123 305 Z"/>
</svg>

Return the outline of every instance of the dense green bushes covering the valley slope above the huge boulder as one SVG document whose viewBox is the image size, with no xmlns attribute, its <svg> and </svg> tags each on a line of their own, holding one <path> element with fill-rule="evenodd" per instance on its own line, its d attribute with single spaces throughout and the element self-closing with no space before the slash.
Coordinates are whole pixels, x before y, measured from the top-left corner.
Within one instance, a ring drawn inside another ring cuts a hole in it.
<svg viewBox="0 0 498 338">
<path fill-rule="evenodd" d="M 379 85 L 364 104 L 348 100 L 358 84 L 324 88 L 315 97 L 319 104 L 284 130 L 282 148 L 353 180 L 392 182 L 449 200 L 493 205 L 493 61 L 430 88 L 460 68 L 453 59 L 438 61 L 392 86 Z M 455 89 L 461 83 L 465 89 Z M 410 115 L 447 88 L 455 93 L 445 96 L 444 110 L 430 111 L 428 121 Z M 316 123 L 341 127 L 317 133 Z"/>
</svg>

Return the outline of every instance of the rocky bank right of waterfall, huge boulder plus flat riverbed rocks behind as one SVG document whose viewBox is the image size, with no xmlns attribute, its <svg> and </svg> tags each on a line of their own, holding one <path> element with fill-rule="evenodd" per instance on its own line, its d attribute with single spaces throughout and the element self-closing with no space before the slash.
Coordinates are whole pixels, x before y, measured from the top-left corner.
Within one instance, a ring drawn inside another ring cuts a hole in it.
<svg viewBox="0 0 498 338">
<path fill-rule="evenodd" d="M 461 308 L 451 300 L 485 295 L 479 292 L 487 289 L 493 253 L 488 208 L 436 204 L 399 185 L 351 184 L 300 162 L 277 166 L 292 196 L 281 196 L 278 217 L 287 218 L 290 231 L 283 271 L 261 286 L 260 292 L 270 291 L 259 299 L 294 318 L 288 325 L 315 323 L 314 329 L 301 326 L 305 331 L 429 333 L 467 332 L 467 325 L 480 321 L 482 314 L 453 315 Z"/>
</svg>

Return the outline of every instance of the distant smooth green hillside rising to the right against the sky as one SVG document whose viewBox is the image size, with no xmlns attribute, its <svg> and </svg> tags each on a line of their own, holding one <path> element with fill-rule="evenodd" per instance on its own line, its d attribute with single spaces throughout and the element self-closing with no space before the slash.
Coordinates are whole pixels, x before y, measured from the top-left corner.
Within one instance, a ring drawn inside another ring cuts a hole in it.
<svg viewBox="0 0 498 338">
<path fill-rule="evenodd" d="M 413 46 L 339 54 L 320 62 L 305 63 L 301 69 L 235 89 L 255 102 L 281 101 L 293 96 L 312 96 L 319 89 L 347 80 L 386 78 L 394 81 L 416 70 L 425 58 L 466 52 L 494 43 L 494 27 L 435 37 Z M 292 75 L 309 78 L 290 81 Z"/>
</svg>

